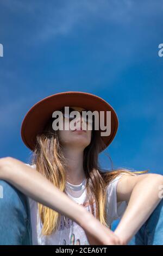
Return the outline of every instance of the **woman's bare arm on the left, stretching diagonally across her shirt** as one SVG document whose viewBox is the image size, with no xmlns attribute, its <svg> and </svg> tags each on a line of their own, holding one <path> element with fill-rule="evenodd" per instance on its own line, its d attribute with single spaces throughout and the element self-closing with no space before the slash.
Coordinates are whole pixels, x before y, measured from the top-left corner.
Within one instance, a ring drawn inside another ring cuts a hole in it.
<svg viewBox="0 0 163 256">
<path fill-rule="evenodd" d="M 0 159 L 0 179 L 26 196 L 71 218 L 85 231 L 91 245 L 120 245 L 117 235 L 102 225 L 83 206 L 71 200 L 37 170 L 12 157 Z"/>
</svg>

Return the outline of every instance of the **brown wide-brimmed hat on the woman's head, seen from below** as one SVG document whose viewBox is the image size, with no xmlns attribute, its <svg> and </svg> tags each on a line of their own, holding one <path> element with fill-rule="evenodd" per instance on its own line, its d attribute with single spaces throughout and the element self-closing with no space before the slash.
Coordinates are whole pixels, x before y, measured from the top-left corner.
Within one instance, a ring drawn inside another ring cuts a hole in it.
<svg viewBox="0 0 163 256">
<path fill-rule="evenodd" d="M 43 131 L 47 121 L 52 118 L 54 111 L 64 106 L 82 107 L 90 111 L 111 111 L 111 133 L 109 136 L 102 136 L 105 146 L 112 142 L 118 129 L 117 114 L 108 102 L 101 97 L 84 92 L 64 92 L 45 97 L 29 109 L 21 125 L 21 137 L 26 146 L 32 151 L 35 148 L 36 136 Z M 106 122 L 105 122 L 106 125 Z M 100 127 L 100 126 L 99 126 Z M 106 148 L 105 147 L 105 148 Z M 102 149 L 104 150 L 104 149 Z"/>
</svg>

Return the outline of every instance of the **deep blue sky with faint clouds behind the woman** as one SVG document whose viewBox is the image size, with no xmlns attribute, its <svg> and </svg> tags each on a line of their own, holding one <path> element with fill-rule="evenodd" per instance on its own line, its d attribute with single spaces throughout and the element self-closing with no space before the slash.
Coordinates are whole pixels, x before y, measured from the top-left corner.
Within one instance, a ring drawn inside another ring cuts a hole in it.
<svg viewBox="0 0 163 256">
<path fill-rule="evenodd" d="M 163 174 L 163 1 L 1 0 L 0 157 L 28 162 L 24 115 L 51 94 L 96 94 L 120 125 L 114 166 Z M 104 153 L 101 165 L 110 168 Z"/>
</svg>

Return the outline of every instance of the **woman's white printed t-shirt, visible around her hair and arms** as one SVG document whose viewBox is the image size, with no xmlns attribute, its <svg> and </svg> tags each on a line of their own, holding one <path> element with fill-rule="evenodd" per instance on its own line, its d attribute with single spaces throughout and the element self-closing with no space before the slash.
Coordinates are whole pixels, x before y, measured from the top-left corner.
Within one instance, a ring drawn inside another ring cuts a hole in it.
<svg viewBox="0 0 163 256">
<path fill-rule="evenodd" d="M 35 164 L 30 167 L 35 168 Z M 118 175 L 107 187 L 106 215 L 108 225 L 111 225 L 112 221 L 117 218 L 121 218 L 127 207 L 125 201 L 117 203 L 116 187 L 122 175 Z M 66 182 L 68 196 L 78 204 L 83 204 L 85 201 L 85 184 L 86 179 L 80 185 Z M 51 235 L 42 236 L 42 222 L 39 217 L 37 202 L 29 197 L 29 204 L 33 245 L 89 245 L 84 230 L 76 222 L 65 216 L 61 216 L 61 224 L 57 231 L 53 231 Z M 85 208 L 91 211 L 89 203 L 85 204 Z"/>
</svg>

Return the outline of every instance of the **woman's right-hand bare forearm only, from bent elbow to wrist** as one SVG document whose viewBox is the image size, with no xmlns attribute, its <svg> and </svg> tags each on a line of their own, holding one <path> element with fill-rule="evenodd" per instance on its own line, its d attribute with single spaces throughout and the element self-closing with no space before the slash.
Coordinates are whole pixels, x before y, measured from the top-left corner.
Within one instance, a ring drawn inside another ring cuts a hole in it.
<svg viewBox="0 0 163 256">
<path fill-rule="evenodd" d="M 134 186 L 127 209 L 115 230 L 115 234 L 125 243 L 137 233 L 159 204 L 160 185 L 163 185 L 162 175 L 149 175 Z"/>
</svg>

